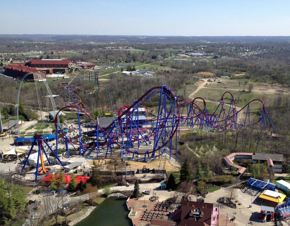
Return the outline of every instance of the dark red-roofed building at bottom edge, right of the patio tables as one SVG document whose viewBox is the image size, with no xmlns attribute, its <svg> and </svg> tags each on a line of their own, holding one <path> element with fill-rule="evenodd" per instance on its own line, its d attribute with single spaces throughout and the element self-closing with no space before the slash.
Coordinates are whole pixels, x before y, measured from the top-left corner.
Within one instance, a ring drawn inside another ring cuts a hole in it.
<svg viewBox="0 0 290 226">
<path fill-rule="evenodd" d="M 218 212 L 212 203 L 181 200 L 172 220 L 182 226 L 213 226 L 217 225 Z"/>
</svg>

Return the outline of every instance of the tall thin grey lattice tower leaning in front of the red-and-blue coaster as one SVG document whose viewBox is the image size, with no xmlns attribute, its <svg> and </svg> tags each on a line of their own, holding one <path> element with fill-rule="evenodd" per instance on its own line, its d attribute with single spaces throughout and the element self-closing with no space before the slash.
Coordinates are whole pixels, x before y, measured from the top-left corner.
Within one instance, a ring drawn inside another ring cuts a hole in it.
<svg viewBox="0 0 290 226">
<path fill-rule="evenodd" d="M 123 165 L 124 165 L 124 169 L 125 169 L 125 173 L 126 173 L 126 179 L 130 176 L 132 176 L 132 171 L 131 171 L 131 167 L 130 167 L 130 163 L 129 161 L 127 161 L 129 159 L 129 157 L 125 154 L 126 149 L 125 149 L 125 145 L 124 145 L 124 137 L 123 137 L 123 130 L 122 130 L 122 120 L 121 120 L 121 127 L 118 121 L 118 117 L 116 116 L 116 109 L 115 109 L 115 105 L 114 105 L 114 101 L 112 98 L 112 94 L 111 91 L 109 91 L 109 97 L 110 97 L 110 101 L 111 101 L 111 108 L 112 108 L 112 114 L 113 114 L 113 121 L 114 121 L 114 125 L 115 125 L 115 129 L 116 129 L 116 134 L 117 134 L 117 140 L 118 143 L 121 147 L 121 157 L 123 160 Z M 113 134 L 113 133 L 112 133 Z"/>
</svg>

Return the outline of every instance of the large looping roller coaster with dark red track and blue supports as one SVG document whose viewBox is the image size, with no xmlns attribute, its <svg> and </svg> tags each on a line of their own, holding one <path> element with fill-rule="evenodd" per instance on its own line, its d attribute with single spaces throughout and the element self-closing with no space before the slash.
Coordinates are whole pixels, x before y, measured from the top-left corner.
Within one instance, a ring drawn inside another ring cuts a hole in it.
<svg viewBox="0 0 290 226">
<path fill-rule="evenodd" d="M 140 111 L 140 108 L 146 106 L 147 102 L 156 103 L 157 106 L 155 110 L 151 108 L 154 110 L 151 111 L 153 112 L 151 115 Z M 238 110 L 234 96 L 230 92 L 224 92 L 221 101 L 214 110 L 207 108 L 203 98 L 196 97 L 192 101 L 185 100 L 176 96 L 166 85 L 148 89 L 132 105 L 124 105 L 119 111 L 114 109 L 112 101 L 111 106 L 114 119 L 105 127 L 102 127 L 95 118 L 92 118 L 82 108 L 81 103 L 61 108 L 54 119 L 57 130 L 56 155 L 58 142 L 63 139 L 67 157 L 70 157 L 70 144 L 75 150 L 77 150 L 76 147 L 79 147 L 80 156 L 85 154 L 85 150 L 91 150 L 96 153 L 97 159 L 99 157 L 107 158 L 113 152 L 120 151 L 124 166 L 126 160 L 134 159 L 136 156 L 140 158 L 140 155 L 143 156 L 140 160 L 144 161 L 153 159 L 157 155 L 160 159 L 160 156 L 164 154 L 171 159 L 174 149 L 173 153 L 175 153 L 177 161 L 177 132 L 182 129 L 218 132 L 251 127 L 263 131 L 270 128 L 276 133 L 262 100 L 254 99 Z M 57 116 L 66 109 L 77 111 L 78 121 L 73 136 L 68 135 L 58 121 Z M 251 112 L 250 109 L 254 109 L 254 111 Z M 258 113 L 260 116 L 257 117 Z M 89 126 L 86 123 L 88 121 L 91 121 Z M 35 139 L 39 140 L 38 137 L 40 136 L 35 136 Z M 85 141 L 83 141 L 84 137 Z M 127 176 L 129 173 L 127 174 L 126 166 L 125 171 Z"/>
</svg>

